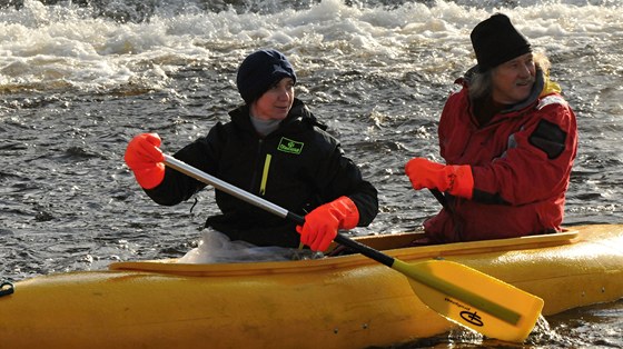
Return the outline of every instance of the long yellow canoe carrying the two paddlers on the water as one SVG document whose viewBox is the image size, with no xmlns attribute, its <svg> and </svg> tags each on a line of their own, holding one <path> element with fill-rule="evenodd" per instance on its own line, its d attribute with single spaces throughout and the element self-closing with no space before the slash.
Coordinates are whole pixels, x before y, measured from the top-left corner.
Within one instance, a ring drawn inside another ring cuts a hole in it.
<svg viewBox="0 0 623 349">
<path fill-rule="evenodd" d="M 415 233 L 358 238 L 407 262 L 455 261 L 541 297 L 548 316 L 623 298 L 623 225 L 516 239 L 407 246 Z M 2 348 L 365 348 L 454 325 L 408 279 L 362 255 L 185 265 L 117 262 L 102 271 L 6 285 Z M 461 275 L 455 276 L 457 279 Z"/>
</svg>

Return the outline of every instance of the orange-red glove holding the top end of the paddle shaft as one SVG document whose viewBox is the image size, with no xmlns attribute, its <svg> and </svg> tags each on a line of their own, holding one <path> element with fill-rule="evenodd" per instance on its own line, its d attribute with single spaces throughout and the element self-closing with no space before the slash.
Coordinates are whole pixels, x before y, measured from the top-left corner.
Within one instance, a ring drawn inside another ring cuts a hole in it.
<svg viewBox="0 0 623 349">
<path fill-rule="evenodd" d="M 158 187 L 165 179 L 165 156 L 158 147 L 158 134 L 142 133 L 132 138 L 126 149 L 126 163 L 135 172 L 137 182 L 145 189 Z"/>
</svg>

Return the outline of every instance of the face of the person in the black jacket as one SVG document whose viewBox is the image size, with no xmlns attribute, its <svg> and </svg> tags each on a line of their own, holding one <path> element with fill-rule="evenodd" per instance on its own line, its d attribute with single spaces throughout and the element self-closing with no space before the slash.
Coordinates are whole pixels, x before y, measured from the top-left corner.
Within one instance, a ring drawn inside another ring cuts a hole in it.
<svg viewBox="0 0 623 349">
<path fill-rule="evenodd" d="M 251 104 L 251 113 L 261 120 L 283 120 L 288 116 L 293 102 L 294 80 L 284 78 Z"/>
</svg>

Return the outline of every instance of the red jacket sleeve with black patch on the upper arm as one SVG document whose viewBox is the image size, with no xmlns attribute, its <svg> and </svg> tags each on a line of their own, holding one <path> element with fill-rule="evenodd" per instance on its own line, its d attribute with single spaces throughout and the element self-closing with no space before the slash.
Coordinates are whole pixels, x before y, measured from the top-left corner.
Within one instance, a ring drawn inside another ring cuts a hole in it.
<svg viewBox="0 0 623 349">
<path fill-rule="evenodd" d="M 507 140 L 507 150 L 486 166 L 474 166 L 473 200 L 513 206 L 564 193 L 577 149 L 575 116 L 562 97 L 544 98 L 527 122 Z"/>
</svg>

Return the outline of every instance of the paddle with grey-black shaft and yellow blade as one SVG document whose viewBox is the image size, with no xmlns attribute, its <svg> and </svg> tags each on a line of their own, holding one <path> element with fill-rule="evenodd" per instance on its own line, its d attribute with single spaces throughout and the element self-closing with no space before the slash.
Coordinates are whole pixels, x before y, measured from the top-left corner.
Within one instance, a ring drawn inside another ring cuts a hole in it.
<svg viewBox="0 0 623 349">
<path fill-rule="evenodd" d="M 170 156 L 165 154 L 165 163 L 278 217 L 299 225 L 305 222 L 296 213 Z M 541 298 L 464 265 L 437 259 L 406 263 L 340 233 L 334 241 L 407 276 L 414 292 L 431 309 L 491 338 L 524 341 L 543 308 Z"/>
</svg>

